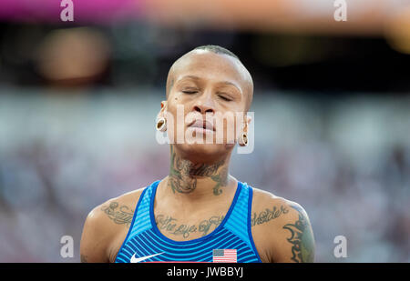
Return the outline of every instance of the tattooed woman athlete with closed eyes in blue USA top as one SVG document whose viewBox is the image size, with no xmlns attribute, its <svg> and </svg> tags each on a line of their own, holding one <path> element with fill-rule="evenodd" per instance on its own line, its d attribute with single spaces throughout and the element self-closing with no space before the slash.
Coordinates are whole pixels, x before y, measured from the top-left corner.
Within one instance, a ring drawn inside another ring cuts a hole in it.
<svg viewBox="0 0 410 281">
<path fill-rule="evenodd" d="M 81 261 L 313 262 L 302 206 L 229 173 L 234 146 L 251 141 L 253 83 L 240 59 L 197 47 L 169 69 L 166 94 L 156 127 L 169 135 L 169 175 L 95 207 Z M 230 114 L 240 117 L 220 121 Z"/>
</svg>

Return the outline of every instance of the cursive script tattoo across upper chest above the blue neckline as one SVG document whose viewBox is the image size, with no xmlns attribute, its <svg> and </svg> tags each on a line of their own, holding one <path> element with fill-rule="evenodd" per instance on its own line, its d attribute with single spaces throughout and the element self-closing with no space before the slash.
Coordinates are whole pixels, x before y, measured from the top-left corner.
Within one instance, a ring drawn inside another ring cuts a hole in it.
<svg viewBox="0 0 410 281">
<path fill-rule="evenodd" d="M 156 224 L 160 230 L 166 230 L 169 234 L 175 236 L 183 236 L 188 238 L 190 234 L 200 232 L 201 236 L 206 236 L 210 232 L 211 226 L 218 227 L 224 216 L 211 216 L 209 219 L 203 220 L 198 226 L 179 225 L 177 219 L 172 216 L 158 215 L 155 218 Z"/>
</svg>

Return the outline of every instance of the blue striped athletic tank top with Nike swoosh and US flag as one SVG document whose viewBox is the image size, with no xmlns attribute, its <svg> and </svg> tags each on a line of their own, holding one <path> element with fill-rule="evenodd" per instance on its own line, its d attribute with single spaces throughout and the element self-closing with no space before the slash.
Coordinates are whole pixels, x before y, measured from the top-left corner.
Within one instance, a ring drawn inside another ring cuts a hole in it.
<svg viewBox="0 0 410 281">
<path fill-rule="evenodd" d="M 230 262 L 261 262 L 251 235 L 252 187 L 247 183 L 238 181 L 230 209 L 219 226 L 206 236 L 188 241 L 174 241 L 160 233 L 154 217 L 158 185 L 159 180 L 142 191 L 117 263 L 213 262 L 223 253 L 229 253 L 225 257 Z M 225 249 L 233 249 L 234 254 L 221 251 Z"/>
</svg>

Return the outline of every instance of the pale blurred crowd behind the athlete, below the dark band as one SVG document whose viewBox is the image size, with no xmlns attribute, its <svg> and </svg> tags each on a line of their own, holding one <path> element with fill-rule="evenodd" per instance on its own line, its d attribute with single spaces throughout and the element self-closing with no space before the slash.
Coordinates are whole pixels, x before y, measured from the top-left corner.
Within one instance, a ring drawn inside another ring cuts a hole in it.
<svg viewBox="0 0 410 281">
<path fill-rule="evenodd" d="M 2 90 L 0 262 L 78 262 L 92 208 L 168 175 L 154 128 L 163 95 Z M 255 93 L 254 151 L 232 155 L 231 175 L 301 204 L 318 262 L 410 262 L 408 108 L 405 95 Z M 62 236 L 73 258 L 60 256 Z M 335 236 L 348 257 L 333 256 Z"/>
</svg>

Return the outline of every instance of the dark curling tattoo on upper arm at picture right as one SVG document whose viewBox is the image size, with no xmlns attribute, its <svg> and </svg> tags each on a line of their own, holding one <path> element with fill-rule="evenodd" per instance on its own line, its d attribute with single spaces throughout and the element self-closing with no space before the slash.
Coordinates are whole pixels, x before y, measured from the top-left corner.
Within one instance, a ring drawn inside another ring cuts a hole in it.
<svg viewBox="0 0 410 281">
<path fill-rule="evenodd" d="M 296 263 L 313 263 L 314 260 L 314 238 L 312 228 L 303 216 L 299 207 L 292 206 L 298 211 L 299 219 L 294 224 L 287 224 L 283 229 L 291 232 L 291 237 L 287 238 L 292 244 L 292 261 Z"/>
</svg>

